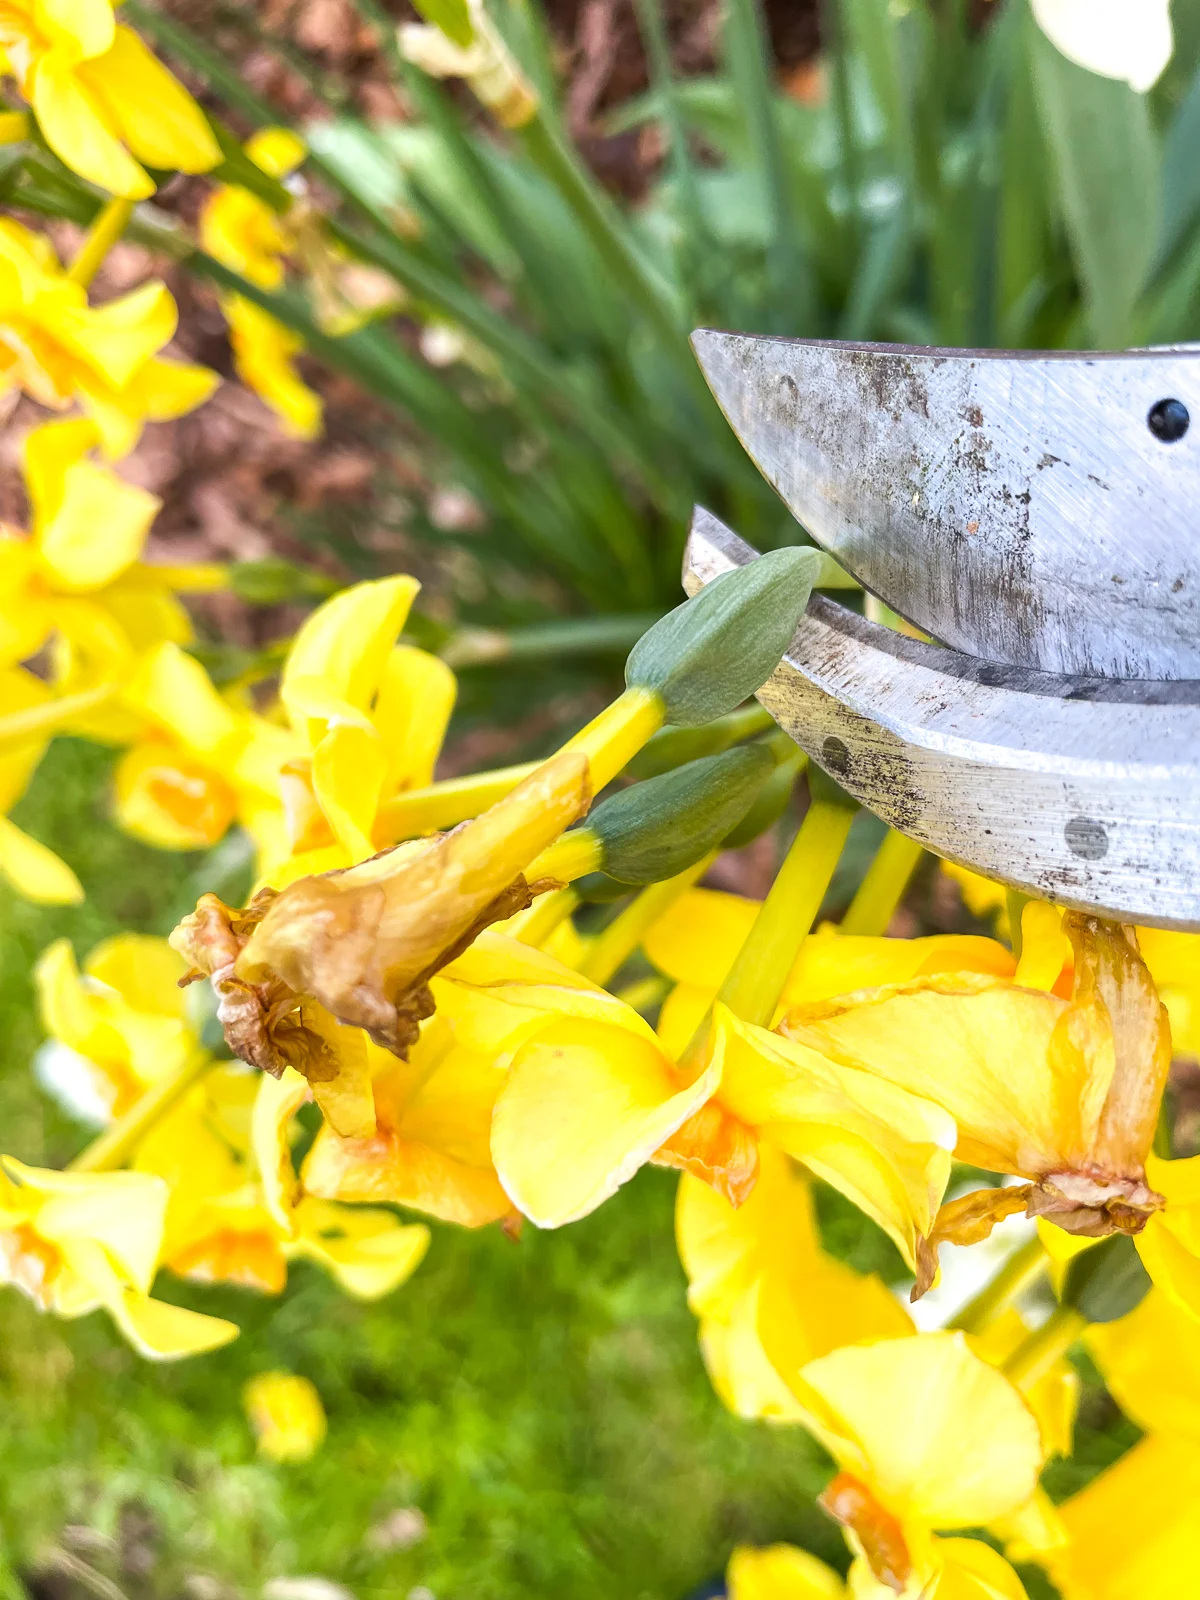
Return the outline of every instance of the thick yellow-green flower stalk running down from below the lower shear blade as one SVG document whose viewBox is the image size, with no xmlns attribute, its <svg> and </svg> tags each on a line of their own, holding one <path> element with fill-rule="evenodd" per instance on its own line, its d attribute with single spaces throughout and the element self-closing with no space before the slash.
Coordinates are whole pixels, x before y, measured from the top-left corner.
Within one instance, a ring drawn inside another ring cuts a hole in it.
<svg viewBox="0 0 1200 1600">
<path fill-rule="evenodd" d="M 717 997 L 744 1022 L 771 1026 L 779 995 L 795 966 L 800 946 L 813 928 L 853 821 L 854 808 L 837 800 L 821 798 L 810 805 Z M 707 1021 L 702 1027 L 707 1030 Z"/>
</svg>

